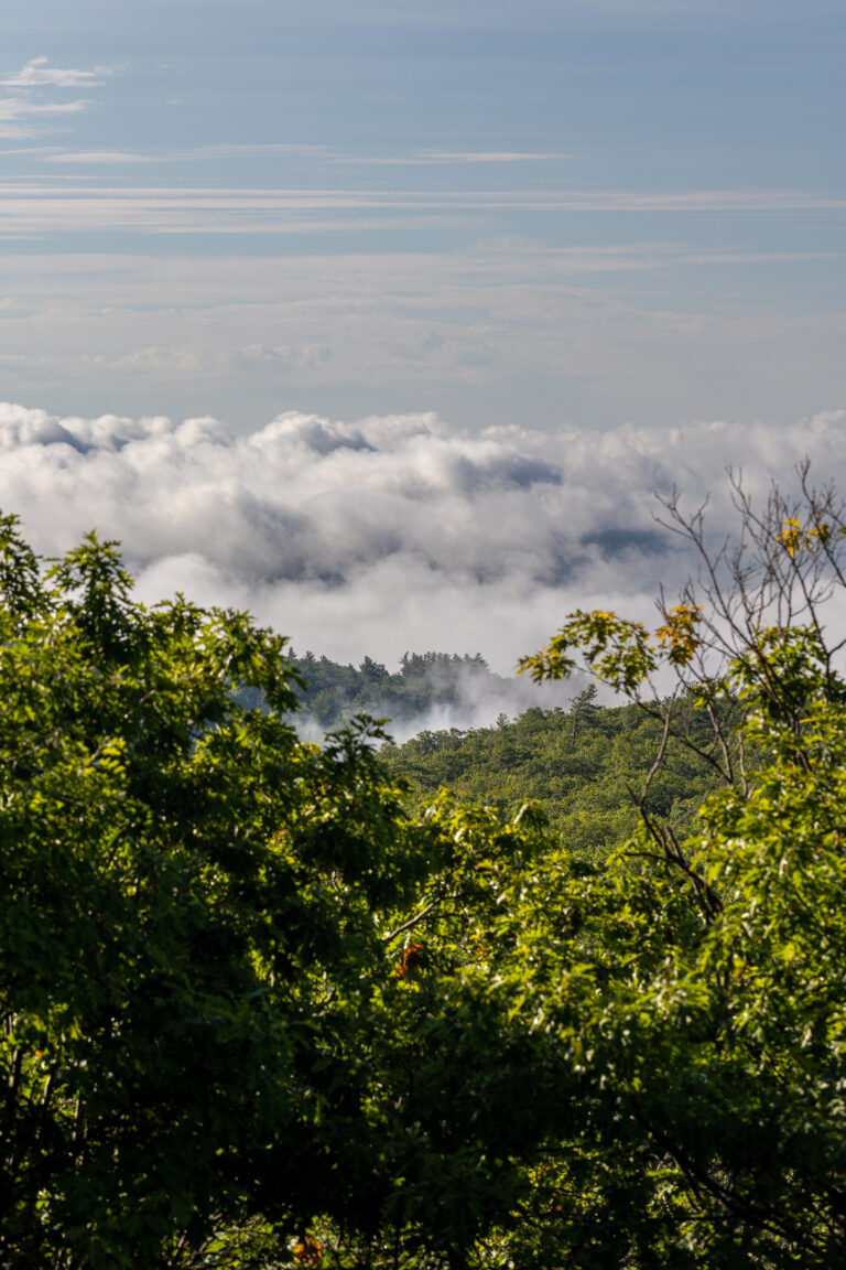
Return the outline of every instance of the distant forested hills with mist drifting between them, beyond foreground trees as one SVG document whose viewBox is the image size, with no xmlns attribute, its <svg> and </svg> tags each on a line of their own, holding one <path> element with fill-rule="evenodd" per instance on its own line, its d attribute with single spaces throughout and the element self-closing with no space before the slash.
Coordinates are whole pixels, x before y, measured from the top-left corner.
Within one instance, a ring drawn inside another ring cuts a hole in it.
<svg viewBox="0 0 846 1270">
<path fill-rule="evenodd" d="M 384 745 L 387 770 L 410 781 L 417 806 L 441 787 L 505 817 L 533 800 L 569 850 L 599 857 L 634 831 L 637 799 L 661 740 L 654 711 L 600 706 L 591 685 L 563 709 L 529 706 L 514 719 L 495 714 L 504 702 L 542 697 L 542 687 L 495 674 L 479 654 L 406 653 L 393 674 L 369 657 L 354 667 L 292 654 L 288 664 L 304 681 L 294 688 L 299 705 L 292 714 L 301 732 L 322 735 L 355 714 L 388 718 L 389 734 L 449 709 L 490 719 L 476 728 L 426 728 L 401 745 Z M 238 697 L 252 704 L 249 690 Z M 690 739 L 706 742 L 709 724 L 693 702 L 677 710 Z M 708 767 L 674 740 L 646 805 L 682 824 L 713 786 Z"/>
</svg>

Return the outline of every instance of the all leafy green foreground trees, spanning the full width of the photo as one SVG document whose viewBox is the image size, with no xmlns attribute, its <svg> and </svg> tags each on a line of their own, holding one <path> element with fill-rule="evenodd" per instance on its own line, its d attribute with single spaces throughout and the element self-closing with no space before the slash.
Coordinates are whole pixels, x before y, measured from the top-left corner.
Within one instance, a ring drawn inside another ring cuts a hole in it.
<svg viewBox="0 0 846 1270">
<path fill-rule="evenodd" d="M 846 516 L 800 483 L 717 555 L 671 502 L 658 625 L 525 659 L 627 705 L 383 751 L 301 740 L 247 615 L 3 518 L 3 1264 L 846 1265 Z"/>
</svg>

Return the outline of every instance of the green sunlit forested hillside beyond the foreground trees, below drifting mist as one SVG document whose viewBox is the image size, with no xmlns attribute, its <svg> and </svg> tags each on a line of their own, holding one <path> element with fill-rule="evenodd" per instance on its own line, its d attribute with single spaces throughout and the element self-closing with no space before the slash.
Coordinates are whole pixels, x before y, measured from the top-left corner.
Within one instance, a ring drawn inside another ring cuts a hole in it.
<svg viewBox="0 0 846 1270">
<path fill-rule="evenodd" d="M 637 799 L 661 743 L 661 720 L 638 705 L 601 707 L 587 688 L 569 710 L 501 715 L 492 728 L 422 732 L 382 757 L 411 782 L 424 805 L 439 787 L 462 801 L 502 815 L 534 800 L 568 850 L 602 857 L 624 842 L 638 820 Z M 679 725 L 708 743 L 708 720 L 693 702 L 679 707 Z M 681 740 L 667 745 L 649 785 L 646 809 L 684 824 L 714 787 L 714 777 Z"/>
</svg>

